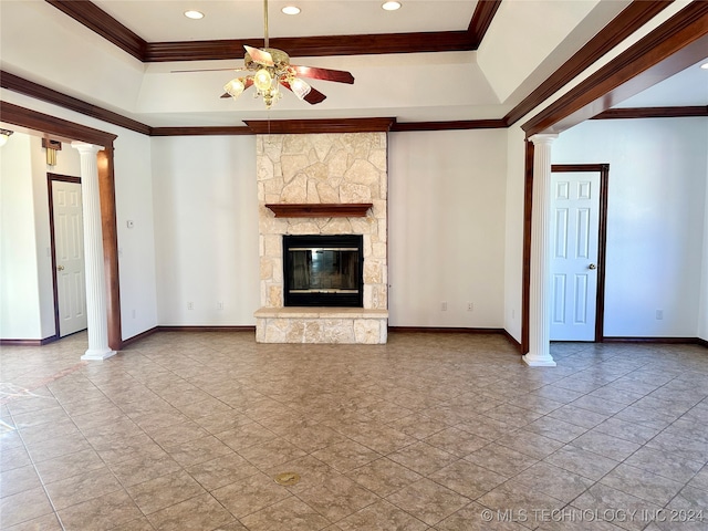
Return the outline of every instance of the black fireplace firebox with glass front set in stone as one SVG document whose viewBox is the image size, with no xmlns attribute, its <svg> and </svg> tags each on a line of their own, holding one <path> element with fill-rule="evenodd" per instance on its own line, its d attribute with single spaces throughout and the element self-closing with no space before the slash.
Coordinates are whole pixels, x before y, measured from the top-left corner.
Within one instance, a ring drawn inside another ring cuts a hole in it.
<svg viewBox="0 0 708 531">
<path fill-rule="evenodd" d="M 285 306 L 363 308 L 361 235 L 283 236 Z"/>
</svg>

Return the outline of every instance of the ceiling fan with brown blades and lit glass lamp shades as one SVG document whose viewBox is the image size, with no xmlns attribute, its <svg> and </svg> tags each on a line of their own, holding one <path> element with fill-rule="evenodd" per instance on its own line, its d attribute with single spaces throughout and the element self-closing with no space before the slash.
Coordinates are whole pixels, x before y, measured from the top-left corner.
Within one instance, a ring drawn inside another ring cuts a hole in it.
<svg viewBox="0 0 708 531">
<path fill-rule="evenodd" d="M 269 48 L 268 38 L 268 0 L 263 0 L 263 33 L 264 46 L 253 48 L 244 45 L 243 67 L 241 69 L 206 69 L 177 70 L 173 72 L 216 72 L 235 71 L 248 72 L 246 75 L 229 81 L 221 97 L 238 98 L 243 91 L 256 87 L 254 97 L 262 97 L 266 108 L 270 108 L 282 97 L 280 87 L 293 92 L 300 100 L 311 105 L 323 102 L 327 96 L 310 86 L 303 77 L 312 80 L 333 81 L 336 83 L 354 83 L 354 76 L 342 70 L 320 69 L 316 66 L 299 66 L 290 64 L 290 56 L 282 50 Z"/>
</svg>

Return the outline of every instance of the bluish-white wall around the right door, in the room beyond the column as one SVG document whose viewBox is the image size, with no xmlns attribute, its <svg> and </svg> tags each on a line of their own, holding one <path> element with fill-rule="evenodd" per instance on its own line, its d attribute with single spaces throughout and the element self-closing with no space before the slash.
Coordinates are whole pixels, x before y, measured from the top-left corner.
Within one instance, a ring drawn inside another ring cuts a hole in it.
<svg viewBox="0 0 708 531">
<path fill-rule="evenodd" d="M 610 164 L 606 336 L 699 333 L 707 123 L 589 121 L 553 144 L 553 164 Z"/>
</svg>

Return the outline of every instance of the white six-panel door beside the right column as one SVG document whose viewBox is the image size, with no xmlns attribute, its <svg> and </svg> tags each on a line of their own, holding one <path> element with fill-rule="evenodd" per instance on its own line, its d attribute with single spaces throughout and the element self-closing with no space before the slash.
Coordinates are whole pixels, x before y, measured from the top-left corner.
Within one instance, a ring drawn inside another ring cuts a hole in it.
<svg viewBox="0 0 708 531">
<path fill-rule="evenodd" d="M 551 175 L 551 341 L 595 341 L 600 171 Z"/>
</svg>

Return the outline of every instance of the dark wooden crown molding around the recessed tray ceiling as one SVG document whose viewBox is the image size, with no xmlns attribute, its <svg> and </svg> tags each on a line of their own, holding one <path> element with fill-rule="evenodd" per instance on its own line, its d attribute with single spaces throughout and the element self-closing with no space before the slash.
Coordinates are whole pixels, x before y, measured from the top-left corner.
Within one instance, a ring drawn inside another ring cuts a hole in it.
<svg viewBox="0 0 708 531">
<path fill-rule="evenodd" d="M 230 60 L 243 56 L 243 44 L 260 46 L 263 39 L 146 42 L 90 0 L 45 0 L 144 63 Z M 382 33 L 273 38 L 273 48 L 290 56 L 371 55 L 381 53 L 450 52 L 477 50 L 501 0 L 477 2 L 465 31 Z"/>
</svg>

